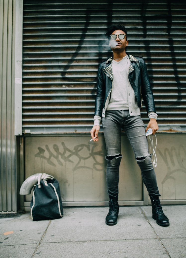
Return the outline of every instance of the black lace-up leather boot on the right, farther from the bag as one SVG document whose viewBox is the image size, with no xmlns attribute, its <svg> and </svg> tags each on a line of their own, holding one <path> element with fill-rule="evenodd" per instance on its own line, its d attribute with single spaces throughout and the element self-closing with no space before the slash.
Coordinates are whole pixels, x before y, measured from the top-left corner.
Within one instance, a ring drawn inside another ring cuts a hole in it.
<svg viewBox="0 0 186 258">
<path fill-rule="evenodd" d="M 153 196 L 150 198 L 152 203 L 152 218 L 156 220 L 156 223 L 162 227 L 169 226 L 169 219 L 162 211 L 159 196 Z"/>
</svg>

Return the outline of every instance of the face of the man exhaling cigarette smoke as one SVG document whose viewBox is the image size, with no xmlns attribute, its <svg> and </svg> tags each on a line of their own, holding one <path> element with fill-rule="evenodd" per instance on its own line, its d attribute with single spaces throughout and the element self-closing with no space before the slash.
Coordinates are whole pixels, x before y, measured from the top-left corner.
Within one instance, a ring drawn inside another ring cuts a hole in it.
<svg viewBox="0 0 186 258">
<path fill-rule="evenodd" d="M 113 31 L 112 34 L 117 35 L 117 37 L 116 37 L 116 39 L 110 39 L 109 46 L 111 47 L 111 49 L 113 51 L 123 52 L 125 50 L 126 46 L 128 46 L 129 42 L 128 42 L 128 40 L 126 40 L 126 36 L 124 37 L 124 39 L 119 39 L 118 35 L 125 34 L 124 31 L 123 30 L 115 30 L 115 31 Z"/>
</svg>

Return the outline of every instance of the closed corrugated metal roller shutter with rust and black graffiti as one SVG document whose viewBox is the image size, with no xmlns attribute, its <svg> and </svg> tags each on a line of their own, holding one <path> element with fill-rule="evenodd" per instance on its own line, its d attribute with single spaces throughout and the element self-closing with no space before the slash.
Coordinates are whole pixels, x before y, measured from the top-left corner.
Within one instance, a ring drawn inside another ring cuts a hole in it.
<svg viewBox="0 0 186 258">
<path fill-rule="evenodd" d="M 90 131 L 104 33 L 118 20 L 147 64 L 160 130 L 185 131 L 186 4 L 109 2 L 24 1 L 23 132 Z"/>
</svg>

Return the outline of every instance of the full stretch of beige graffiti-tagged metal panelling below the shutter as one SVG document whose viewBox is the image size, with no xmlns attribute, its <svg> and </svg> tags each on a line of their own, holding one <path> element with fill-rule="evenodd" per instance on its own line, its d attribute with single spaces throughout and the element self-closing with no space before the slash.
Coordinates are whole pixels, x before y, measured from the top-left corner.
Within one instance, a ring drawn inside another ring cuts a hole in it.
<svg viewBox="0 0 186 258">
<path fill-rule="evenodd" d="M 155 141 L 155 136 L 153 138 Z M 64 206 L 107 205 L 103 135 L 97 143 L 89 142 L 90 136 L 84 134 L 30 136 L 24 139 L 25 178 L 36 173 L 53 175 L 59 181 Z M 185 204 L 185 133 L 159 133 L 157 142 L 155 171 L 161 203 Z M 146 205 L 147 190 L 143 189 L 140 169 L 126 135 L 122 135 L 121 153 L 119 203 Z M 26 210 L 31 198 L 32 193 L 25 196 Z"/>
</svg>

